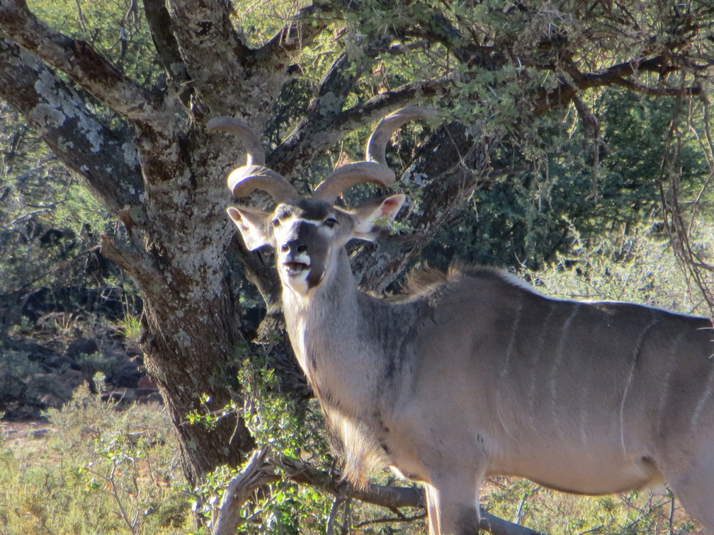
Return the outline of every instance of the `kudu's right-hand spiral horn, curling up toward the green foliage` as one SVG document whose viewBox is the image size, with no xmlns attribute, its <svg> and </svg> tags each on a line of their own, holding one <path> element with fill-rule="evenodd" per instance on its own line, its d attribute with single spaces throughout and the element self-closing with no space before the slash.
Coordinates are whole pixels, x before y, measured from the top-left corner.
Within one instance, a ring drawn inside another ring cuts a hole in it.
<svg viewBox="0 0 714 535">
<path fill-rule="evenodd" d="M 387 165 L 386 148 L 392 134 L 408 121 L 429 118 L 436 113 L 432 108 L 409 106 L 390 113 L 379 121 L 367 141 L 365 161 L 348 163 L 334 170 L 313 193 L 313 198 L 334 203 L 340 193 L 353 185 L 373 183 L 387 189 L 396 180 L 396 175 Z"/>
</svg>

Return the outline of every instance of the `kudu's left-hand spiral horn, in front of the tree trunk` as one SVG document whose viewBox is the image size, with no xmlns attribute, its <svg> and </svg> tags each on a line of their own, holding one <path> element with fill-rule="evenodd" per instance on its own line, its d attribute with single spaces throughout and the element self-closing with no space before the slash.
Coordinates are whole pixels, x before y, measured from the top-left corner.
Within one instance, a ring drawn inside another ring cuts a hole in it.
<svg viewBox="0 0 714 535">
<path fill-rule="evenodd" d="M 235 117 L 216 117 L 208 121 L 209 132 L 236 134 L 246 146 L 246 165 L 233 169 L 228 175 L 228 189 L 236 197 L 247 197 L 255 190 L 263 190 L 278 203 L 298 197 L 298 192 L 283 175 L 266 168 L 266 153 L 258 136 L 248 123 Z"/>
</svg>

